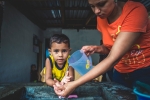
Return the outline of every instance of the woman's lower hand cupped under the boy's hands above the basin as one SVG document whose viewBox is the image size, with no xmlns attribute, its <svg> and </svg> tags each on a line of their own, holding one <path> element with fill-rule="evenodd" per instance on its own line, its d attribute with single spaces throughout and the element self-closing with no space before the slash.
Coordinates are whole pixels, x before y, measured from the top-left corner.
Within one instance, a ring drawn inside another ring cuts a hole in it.
<svg viewBox="0 0 150 100">
<path fill-rule="evenodd" d="M 68 97 L 69 94 L 71 94 L 75 88 L 75 81 L 72 82 L 68 82 L 65 85 L 53 85 L 54 87 L 54 91 L 58 96 L 62 96 L 62 97 Z"/>
</svg>

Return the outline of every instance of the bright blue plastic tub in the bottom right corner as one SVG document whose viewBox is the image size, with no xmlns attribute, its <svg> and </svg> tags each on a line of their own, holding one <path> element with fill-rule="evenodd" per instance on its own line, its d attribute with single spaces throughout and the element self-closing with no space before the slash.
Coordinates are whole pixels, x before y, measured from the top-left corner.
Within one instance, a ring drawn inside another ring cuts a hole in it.
<svg viewBox="0 0 150 100">
<path fill-rule="evenodd" d="M 137 100 L 150 100 L 150 95 L 140 93 L 136 88 L 133 92 L 136 94 Z"/>
</svg>

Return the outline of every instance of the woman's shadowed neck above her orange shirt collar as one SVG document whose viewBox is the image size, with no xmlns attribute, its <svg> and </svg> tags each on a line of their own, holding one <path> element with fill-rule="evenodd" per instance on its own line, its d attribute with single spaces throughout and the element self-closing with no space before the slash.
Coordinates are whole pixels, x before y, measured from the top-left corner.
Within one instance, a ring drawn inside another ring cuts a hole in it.
<svg viewBox="0 0 150 100">
<path fill-rule="evenodd" d="M 123 6 L 124 6 L 125 2 L 117 2 L 117 4 L 114 7 L 113 12 L 111 13 L 111 15 L 107 18 L 108 23 L 111 24 L 113 22 L 115 22 L 119 16 L 122 13 L 123 10 Z"/>
</svg>

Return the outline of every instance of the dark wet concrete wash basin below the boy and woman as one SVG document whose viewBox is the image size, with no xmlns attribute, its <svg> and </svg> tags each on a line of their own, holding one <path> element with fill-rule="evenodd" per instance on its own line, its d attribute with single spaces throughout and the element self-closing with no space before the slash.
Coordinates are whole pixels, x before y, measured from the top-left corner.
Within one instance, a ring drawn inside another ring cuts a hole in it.
<svg viewBox="0 0 150 100">
<path fill-rule="evenodd" d="M 73 93 L 78 95 L 75 100 L 136 100 L 131 89 L 112 82 L 88 82 L 78 87 Z M 0 100 L 60 99 L 53 88 L 45 83 L 24 83 L 0 84 Z"/>
</svg>

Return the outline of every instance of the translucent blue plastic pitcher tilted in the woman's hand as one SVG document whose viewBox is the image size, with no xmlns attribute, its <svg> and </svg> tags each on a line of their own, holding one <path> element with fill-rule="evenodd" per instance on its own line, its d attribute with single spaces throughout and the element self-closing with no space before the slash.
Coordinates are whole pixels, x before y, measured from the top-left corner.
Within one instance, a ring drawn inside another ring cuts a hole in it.
<svg viewBox="0 0 150 100">
<path fill-rule="evenodd" d="M 86 74 L 93 68 L 91 56 L 87 57 L 81 50 L 74 52 L 68 62 L 69 66 L 72 66 L 80 75 Z"/>
</svg>

